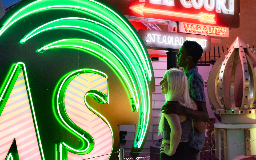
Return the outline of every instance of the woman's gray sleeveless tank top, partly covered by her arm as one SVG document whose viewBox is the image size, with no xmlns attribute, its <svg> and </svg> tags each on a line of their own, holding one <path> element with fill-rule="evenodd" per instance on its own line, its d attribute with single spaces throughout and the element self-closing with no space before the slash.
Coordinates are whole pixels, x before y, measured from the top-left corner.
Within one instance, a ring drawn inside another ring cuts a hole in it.
<svg viewBox="0 0 256 160">
<path fill-rule="evenodd" d="M 164 129 L 163 129 L 163 140 L 171 140 L 171 127 L 165 118 L 164 121 Z M 192 128 L 192 120 L 187 118 L 185 121 L 181 122 L 181 140 L 180 141 L 187 141 L 189 140 L 189 132 Z"/>
</svg>

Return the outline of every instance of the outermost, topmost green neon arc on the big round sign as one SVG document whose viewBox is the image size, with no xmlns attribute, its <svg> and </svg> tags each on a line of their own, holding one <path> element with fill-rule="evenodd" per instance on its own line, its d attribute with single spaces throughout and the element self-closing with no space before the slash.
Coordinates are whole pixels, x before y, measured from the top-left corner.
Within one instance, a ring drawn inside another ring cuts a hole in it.
<svg viewBox="0 0 256 160">
<path fill-rule="evenodd" d="M 43 1 L 43 0 L 35 1 L 35 2 L 33 2 L 33 4 L 35 4 L 35 3 L 37 3 L 37 2 L 40 2 L 40 1 Z M 89 1 L 91 1 L 91 0 L 89 0 Z M 139 42 L 139 44 L 140 44 L 140 46 L 141 46 L 141 48 L 142 48 L 142 50 L 143 50 L 143 52 L 144 52 L 144 55 L 145 55 L 145 57 L 146 57 L 146 60 L 147 60 L 147 62 L 149 62 L 148 59 L 147 59 L 147 56 L 146 56 L 146 52 L 145 52 L 145 50 L 144 50 L 144 48 L 143 48 L 143 46 L 142 46 L 142 44 L 141 44 L 141 41 L 139 41 L 137 35 L 135 35 L 134 31 L 130 28 L 130 26 L 129 26 L 117 13 L 115 13 L 113 10 L 109 9 L 109 8 L 106 7 L 105 5 L 102 5 L 101 3 L 98 3 L 98 2 L 96 2 L 96 1 L 91 1 L 91 2 L 97 3 L 97 4 L 99 4 L 99 5 L 101 5 L 101 6 L 105 7 L 105 8 L 107 8 L 109 11 L 111 11 L 112 13 L 114 13 L 115 15 L 117 15 L 118 18 L 121 19 L 121 20 L 125 23 L 126 26 L 128 26 L 128 28 L 130 29 L 130 31 L 132 31 L 132 33 L 134 34 L 134 37 L 137 38 L 137 41 Z M 30 5 L 32 5 L 32 3 L 31 3 Z M 104 17 L 104 18 L 107 19 L 108 21 L 112 22 L 115 26 L 117 26 L 117 28 L 121 29 L 121 31 L 122 31 L 122 32 L 131 40 L 131 42 L 134 44 L 134 46 L 136 47 L 137 51 L 139 52 L 139 55 L 141 55 L 141 57 L 142 57 L 141 59 L 142 59 L 142 61 L 143 61 L 143 65 L 146 64 L 146 61 L 145 61 L 145 59 L 144 59 L 144 56 L 142 55 L 142 53 L 141 53 L 141 51 L 139 50 L 139 48 L 137 47 L 137 45 L 135 45 L 135 43 L 134 43 L 134 41 L 131 39 L 131 37 L 130 37 L 119 25 L 117 25 L 114 21 L 112 21 L 111 19 L 107 18 L 106 16 L 104 16 L 104 15 L 102 15 L 102 14 L 96 12 L 96 11 L 87 9 L 87 8 L 85 8 L 85 7 L 73 6 L 73 5 L 55 5 L 55 6 L 47 6 L 47 7 L 43 7 L 43 8 L 40 8 L 40 9 L 36 9 L 36 10 L 30 11 L 29 13 L 26 13 L 26 14 L 22 15 L 21 17 L 15 19 L 13 22 L 11 22 L 11 23 L 7 26 L 7 24 L 11 21 L 11 19 L 13 19 L 13 18 L 15 17 L 15 15 L 17 15 L 20 11 L 24 10 L 25 8 L 27 8 L 27 7 L 30 6 L 30 5 L 27 5 L 27 6 L 23 7 L 21 10 L 19 10 L 17 13 L 15 13 L 15 14 L 7 21 L 7 23 L 5 23 L 5 25 L 0 29 L 0 36 L 1 36 L 1 35 L 3 34 L 3 32 L 4 32 L 8 27 L 10 27 L 13 23 L 15 23 L 15 22 L 18 21 L 19 19 L 21 19 L 21 18 L 23 18 L 23 17 L 25 17 L 26 15 L 29 15 L 29 14 L 31 14 L 31 13 L 34 13 L 34 12 L 37 12 L 37 11 L 40 11 L 40 10 L 44 10 L 44 9 L 54 8 L 54 7 L 69 7 L 69 8 L 75 8 L 75 9 L 78 8 L 78 9 L 82 9 L 82 10 L 86 10 L 86 11 L 90 11 L 90 12 L 92 12 L 92 13 L 98 14 L 98 15 L 100 15 L 101 17 Z M 139 64 L 141 65 L 140 62 L 139 62 Z M 150 68 L 149 63 L 147 63 L 146 68 L 147 68 L 147 72 L 148 72 L 148 74 L 149 74 L 149 81 L 150 81 L 152 75 L 151 75 L 151 68 Z"/>
</svg>

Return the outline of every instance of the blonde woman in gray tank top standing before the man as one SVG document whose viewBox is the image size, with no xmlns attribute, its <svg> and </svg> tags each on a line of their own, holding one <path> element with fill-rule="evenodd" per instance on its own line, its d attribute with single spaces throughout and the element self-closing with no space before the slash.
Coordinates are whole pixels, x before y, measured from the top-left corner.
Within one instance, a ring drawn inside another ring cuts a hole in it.
<svg viewBox="0 0 256 160">
<path fill-rule="evenodd" d="M 159 84 L 161 93 L 165 94 L 166 103 L 178 101 L 182 106 L 197 110 L 196 103 L 189 97 L 187 76 L 183 71 L 177 68 L 167 70 Z M 160 116 L 158 135 L 163 135 L 160 159 L 192 159 L 188 144 L 189 132 L 195 126 L 203 133 L 206 123 L 193 123 L 186 115 L 161 113 Z"/>
</svg>

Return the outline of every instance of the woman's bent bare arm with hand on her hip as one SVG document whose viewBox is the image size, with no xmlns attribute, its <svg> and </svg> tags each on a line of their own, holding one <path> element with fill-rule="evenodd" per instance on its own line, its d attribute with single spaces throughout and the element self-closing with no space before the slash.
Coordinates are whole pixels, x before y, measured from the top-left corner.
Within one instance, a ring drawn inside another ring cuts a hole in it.
<svg viewBox="0 0 256 160">
<path fill-rule="evenodd" d="M 160 150 L 161 153 L 171 156 L 176 152 L 179 141 L 181 140 L 181 123 L 179 122 L 179 117 L 177 114 L 165 114 L 165 118 L 171 127 L 171 145 L 169 149 L 169 146 L 166 147 L 166 144 L 164 143 Z"/>
</svg>

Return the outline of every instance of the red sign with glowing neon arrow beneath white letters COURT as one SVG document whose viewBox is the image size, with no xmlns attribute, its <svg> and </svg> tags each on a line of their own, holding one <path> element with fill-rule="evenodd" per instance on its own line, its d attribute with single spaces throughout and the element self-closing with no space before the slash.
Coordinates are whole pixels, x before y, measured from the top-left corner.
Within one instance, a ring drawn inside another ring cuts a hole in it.
<svg viewBox="0 0 256 160">
<path fill-rule="evenodd" d="M 234 0 L 104 0 L 129 19 L 162 19 L 222 27 L 239 27 L 240 2 Z M 132 16 L 132 17 L 130 17 Z M 140 18 L 143 17 L 143 18 Z"/>
</svg>

